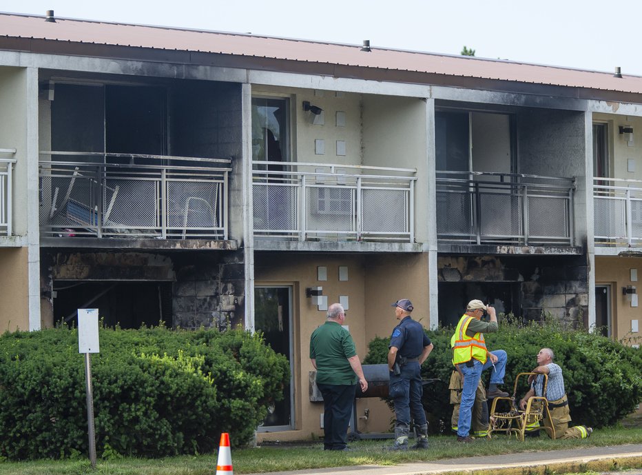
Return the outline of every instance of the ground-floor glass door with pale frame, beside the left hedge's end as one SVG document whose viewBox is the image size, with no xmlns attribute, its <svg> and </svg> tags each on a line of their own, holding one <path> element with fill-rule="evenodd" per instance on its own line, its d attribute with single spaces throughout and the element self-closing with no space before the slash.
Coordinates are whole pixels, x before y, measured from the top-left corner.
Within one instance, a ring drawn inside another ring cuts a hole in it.
<svg viewBox="0 0 642 475">
<path fill-rule="evenodd" d="M 282 401 L 271 407 L 259 432 L 294 428 L 292 287 L 258 286 L 254 288 L 254 327 L 262 332 L 272 350 L 290 363 L 290 382 L 283 387 Z"/>
</svg>

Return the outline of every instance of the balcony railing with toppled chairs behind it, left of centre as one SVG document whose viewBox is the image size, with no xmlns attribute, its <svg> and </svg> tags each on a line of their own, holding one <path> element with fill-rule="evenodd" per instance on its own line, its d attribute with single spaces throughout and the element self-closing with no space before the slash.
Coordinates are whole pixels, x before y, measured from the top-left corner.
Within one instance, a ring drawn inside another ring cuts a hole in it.
<svg viewBox="0 0 642 475">
<path fill-rule="evenodd" d="M 41 152 L 43 236 L 227 239 L 231 161 Z"/>
</svg>

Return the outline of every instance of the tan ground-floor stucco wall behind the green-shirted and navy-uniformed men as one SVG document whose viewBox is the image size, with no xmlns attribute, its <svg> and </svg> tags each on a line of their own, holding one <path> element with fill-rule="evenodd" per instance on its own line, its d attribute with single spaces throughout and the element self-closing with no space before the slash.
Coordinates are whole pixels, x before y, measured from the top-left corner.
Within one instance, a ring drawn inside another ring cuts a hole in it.
<svg viewBox="0 0 642 475">
<path fill-rule="evenodd" d="M 318 281 L 318 266 L 327 268 L 327 281 Z M 348 281 L 339 281 L 339 266 L 348 268 Z M 374 336 L 387 337 L 396 325 L 391 303 L 409 298 L 415 303 L 417 314 L 428 326 L 427 258 L 408 256 L 347 256 L 330 254 L 283 255 L 257 253 L 255 256 L 255 283 L 259 285 L 293 286 L 293 333 L 295 361 L 296 430 L 258 434 L 260 440 L 296 440 L 322 434 L 320 414 L 322 403 L 309 401 L 309 338 L 313 330 L 326 319 L 305 296 L 305 287 L 323 287 L 328 303 L 339 301 L 340 295 L 349 296 L 346 325 L 355 341 L 361 359 L 367 354 L 367 345 Z M 422 277 L 423 276 L 423 277 Z M 423 280 L 422 280 L 423 279 Z M 370 410 L 367 420 L 360 419 L 360 432 L 385 432 L 390 427 L 393 413 L 378 398 L 358 401 L 358 416 Z"/>
</svg>

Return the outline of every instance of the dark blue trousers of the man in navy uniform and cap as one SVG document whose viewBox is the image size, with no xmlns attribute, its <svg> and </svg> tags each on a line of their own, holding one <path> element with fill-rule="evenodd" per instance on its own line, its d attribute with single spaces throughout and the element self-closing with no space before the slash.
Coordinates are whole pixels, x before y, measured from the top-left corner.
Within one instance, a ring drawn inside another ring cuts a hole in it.
<svg viewBox="0 0 642 475">
<path fill-rule="evenodd" d="M 415 425 L 426 423 L 426 413 L 422 404 L 424 387 L 418 361 L 403 365 L 399 376 L 390 373 L 390 391 L 395 403 L 396 425 L 410 427 L 411 413 L 415 419 Z"/>
</svg>

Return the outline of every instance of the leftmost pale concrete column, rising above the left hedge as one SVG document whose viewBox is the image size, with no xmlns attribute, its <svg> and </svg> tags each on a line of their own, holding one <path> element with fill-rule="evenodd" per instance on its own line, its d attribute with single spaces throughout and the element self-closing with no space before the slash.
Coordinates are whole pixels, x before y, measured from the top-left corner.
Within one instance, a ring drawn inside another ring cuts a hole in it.
<svg viewBox="0 0 642 475">
<path fill-rule="evenodd" d="M 40 330 L 40 222 L 38 203 L 38 68 L 27 68 L 25 88 L 29 330 Z"/>
</svg>

